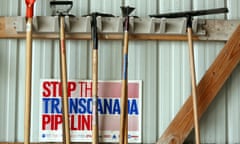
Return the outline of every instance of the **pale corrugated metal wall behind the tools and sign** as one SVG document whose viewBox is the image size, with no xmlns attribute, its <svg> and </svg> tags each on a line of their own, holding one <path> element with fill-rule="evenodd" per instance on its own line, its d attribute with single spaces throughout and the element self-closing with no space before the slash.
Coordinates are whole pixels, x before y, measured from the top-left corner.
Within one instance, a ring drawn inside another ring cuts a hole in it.
<svg viewBox="0 0 240 144">
<path fill-rule="evenodd" d="M 37 0 L 36 15 L 50 15 L 49 0 Z M 83 15 L 101 11 L 121 15 L 120 6 L 136 7 L 134 15 L 157 12 L 228 7 L 228 15 L 204 18 L 239 19 L 239 0 L 74 0 L 71 11 Z M 1 16 L 25 15 L 23 0 L 1 0 Z M 199 81 L 222 42 L 196 42 L 196 72 Z M 58 42 L 34 40 L 32 86 L 32 137 L 38 141 L 39 84 L 41 78 L 59 78 Z M 91 51 L 87 41 L 68 41 L 69 79 L 91 79 Z M 121 41 L 101 41 L 99 79 L 121 79 Z M 0 40 L 0 141 L 23 141 L 25 40 Z M 109 70 L 111 69 L 111 70 Z M 129 79 L 143 80 L 143 143 L 154 143 L 190 94 L 186 42 L 134 41 L 129 47 Z M 203 143 L 240 143 L 240 66 L 201 119 Z M 193 141 L 190 136 L 188 141 Z"/>
</svg>

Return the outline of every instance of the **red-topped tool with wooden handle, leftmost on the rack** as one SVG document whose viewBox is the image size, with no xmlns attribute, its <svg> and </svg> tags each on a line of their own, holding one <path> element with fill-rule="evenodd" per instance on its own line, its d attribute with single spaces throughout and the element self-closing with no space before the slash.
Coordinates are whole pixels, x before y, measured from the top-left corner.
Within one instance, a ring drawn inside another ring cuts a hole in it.
<svg viewBox="0 0 240 144">
<path fill-rule="evenodd" d="M 31 126 L 31 87 L 32 87 L 32 18 L 35 0 L 26 3 L 26 81 L 25 81 L 25 113 L 24 113 L 24 144 L 30 142 Z"/>
</svg>

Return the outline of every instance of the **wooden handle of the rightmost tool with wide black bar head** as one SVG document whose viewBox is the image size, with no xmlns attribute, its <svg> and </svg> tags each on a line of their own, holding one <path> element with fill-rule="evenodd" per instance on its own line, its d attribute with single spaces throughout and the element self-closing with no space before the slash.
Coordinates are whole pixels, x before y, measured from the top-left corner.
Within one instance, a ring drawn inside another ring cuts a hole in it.
<svg viewBox="0 0 240 144">
<path fill-rule="evenodd" d="M 191 70 L 191 83 L 192 83 L 192 98 L 193 98 L 193 115 L 195 126 L 195 139 L 196 144 L 200 144 L 200 130 L 198 124 L 198 107 L 197 107 L 197 89 L 196 89 L 196 75 L 195 75 L 195 63 L 194 63 L 194 49 L 192 41 L 192 28 L 188 28 L 188 47 L 189 47 L 189 61 Z"/>
</svg>

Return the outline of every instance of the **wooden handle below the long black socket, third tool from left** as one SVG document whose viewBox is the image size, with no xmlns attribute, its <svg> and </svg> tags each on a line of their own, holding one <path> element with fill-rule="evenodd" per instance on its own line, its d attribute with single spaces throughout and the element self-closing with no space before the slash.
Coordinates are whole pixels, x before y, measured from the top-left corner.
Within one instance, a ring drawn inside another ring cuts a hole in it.
<svg viewBox="0 0 240 144">
<path fill-rule="evenodd" d="M 94 46 L 94 45 L 93 45 Z M 92 113 L 92 144 L 98 144 L 98 49 L 93 48 L 92 52 L 92 100 L 93 100 L 93 113 Z"/>
</svg>

